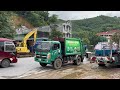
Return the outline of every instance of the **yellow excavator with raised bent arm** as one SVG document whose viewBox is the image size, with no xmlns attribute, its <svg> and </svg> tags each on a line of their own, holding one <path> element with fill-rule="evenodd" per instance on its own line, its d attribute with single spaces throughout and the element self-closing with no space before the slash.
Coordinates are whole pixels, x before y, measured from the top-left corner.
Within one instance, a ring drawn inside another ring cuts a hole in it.
<svg viewBox="0 0 120 90">
<path fill-rule="evenodd" d="M 16 47 L 17 54 L 30 53 L 30 50 L 27 47 L 27 40 L 34 34 L 34 44 L 36 43 L 37 29 L 33 29 L 29 32 L 23 39 L 22 42 Z"/>
</svg>

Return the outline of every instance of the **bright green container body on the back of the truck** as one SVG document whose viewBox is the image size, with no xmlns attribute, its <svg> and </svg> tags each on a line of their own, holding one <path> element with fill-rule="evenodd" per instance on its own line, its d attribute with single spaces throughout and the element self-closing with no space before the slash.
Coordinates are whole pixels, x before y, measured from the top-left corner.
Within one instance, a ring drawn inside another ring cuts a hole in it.
<svg viewBox="0 0 120 90">
<path fill-rule="evenodd" d="M 61 48 L 65 56 L 84 53 L 83 43 L 80 39 L 55 38 L 54 40 L 61 42 Z"/>
</svg>

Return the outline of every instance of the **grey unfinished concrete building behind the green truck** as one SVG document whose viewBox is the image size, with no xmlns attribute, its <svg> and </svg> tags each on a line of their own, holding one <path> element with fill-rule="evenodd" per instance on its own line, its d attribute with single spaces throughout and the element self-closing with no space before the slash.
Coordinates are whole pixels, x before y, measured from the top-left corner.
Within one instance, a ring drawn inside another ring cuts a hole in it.
<svg viewBox="0 0 120 90">
<path fill-rule="evenodd" d="M 56 26 L 57 30 L 63 33 L 63 37 L 72 37 L 72 24 L 70 21 L 66 21 L 65 23 L 61 24 L 38 27 L 39 37 L 49 37 L 49 35 L 51 34 L 51 26 Z"/>
</svg>

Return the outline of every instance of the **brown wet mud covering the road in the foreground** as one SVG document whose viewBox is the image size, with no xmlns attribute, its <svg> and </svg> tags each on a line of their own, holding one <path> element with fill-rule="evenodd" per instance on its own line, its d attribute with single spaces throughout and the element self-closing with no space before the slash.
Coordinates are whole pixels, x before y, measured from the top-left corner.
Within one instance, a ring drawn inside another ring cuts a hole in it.
<svg viewBox="0 0 120 90">
<path fill-rule="evenodd" d="M 120 67 L 99 67 L 95 63 L 85 63 L 80 66 L 68 64 L 63 65 L 59 70 L 47 66 L 42 70 L 18 79 L 120 79 Z"/>
</svg>

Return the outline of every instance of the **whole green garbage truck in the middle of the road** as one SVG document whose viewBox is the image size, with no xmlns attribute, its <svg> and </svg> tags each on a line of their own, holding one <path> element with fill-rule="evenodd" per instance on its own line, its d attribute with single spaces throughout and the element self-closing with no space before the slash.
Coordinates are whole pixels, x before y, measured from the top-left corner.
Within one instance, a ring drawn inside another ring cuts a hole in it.
<svg viewBox="0 0 120 90">
<path fill-rule="evenodd" d="M 85 49 L 80 39 L 54 38 L 54 41 L 41 41 L 35 50 L 35 61 L 42 67 L 52 64 L 55 69 L 62 64 L 73 62 L 80 65 L 83 62 Z"/>
</svg>

